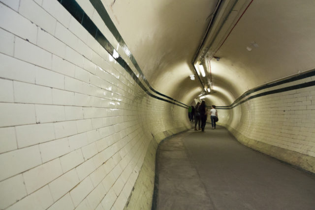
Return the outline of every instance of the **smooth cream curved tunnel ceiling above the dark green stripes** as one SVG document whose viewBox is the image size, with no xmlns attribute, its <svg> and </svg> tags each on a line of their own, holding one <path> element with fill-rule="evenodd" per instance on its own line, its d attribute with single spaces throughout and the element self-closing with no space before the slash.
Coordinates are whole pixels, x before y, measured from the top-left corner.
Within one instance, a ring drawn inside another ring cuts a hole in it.
<svg viewBox="0 0 315 210">
<path fill-rule="evenodd" d="M 189 75 L 196 74 L 191 61 L 214 14 L 221 20 L 214 17 L 197 55 L 206 66 L 211 60 L 208 104 L 227 106 L 247 90 L 315 64 L 312 0 L 102 2 L 151 86 L 186 104 L 203 91 Z"/>
</svg>

